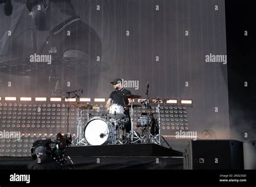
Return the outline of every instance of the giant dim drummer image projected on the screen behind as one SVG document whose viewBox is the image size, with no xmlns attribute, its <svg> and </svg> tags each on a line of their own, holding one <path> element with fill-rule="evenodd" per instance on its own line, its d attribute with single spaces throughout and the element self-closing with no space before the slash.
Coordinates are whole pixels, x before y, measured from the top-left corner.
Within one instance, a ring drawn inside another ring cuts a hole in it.
<svg viewBox="0 0 256 187">
<path fill-rule="evenodd" d="M 31 91 L 37 94 L 62 95 L 77 85 L 87 94 L 95 94 L 98 72 L 103 70 L 102 42 L 77 15 L 71 0 L 16 2 L 26 5 L 22 15 L 33 25 L 20 26 L 21 19 L 13 37 L 4 36 L 2 49 L 7 50 L 0 50 L 0 71 L 21 82 L 41 85 Z"/>
</svg>

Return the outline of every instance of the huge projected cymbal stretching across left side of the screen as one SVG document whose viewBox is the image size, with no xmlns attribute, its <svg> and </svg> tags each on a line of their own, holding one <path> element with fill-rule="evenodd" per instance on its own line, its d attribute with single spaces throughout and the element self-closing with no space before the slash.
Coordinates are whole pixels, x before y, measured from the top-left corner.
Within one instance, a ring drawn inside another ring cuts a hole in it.
<svg viewBox="0 0 256 187">
<path fill-rule="evenodd" d="M 51 64 L 48 63 L 31 63 L 30 58 L 18 59 L 0 59 L 0 72 L 22 75 L 22 76 L 47 76 L 51 72 L 64 72 L 60 74 L 66 77 L 66 74 L 76 74 L 77 77 L 86 77 L 87 73 L 93 73 L 91 70 L 100 69 L 106 71 L 106 63 L 91 63 L 88 59 L 70 58 L 70 57 L 55 57 L 51 59 Z"/>
</svg>

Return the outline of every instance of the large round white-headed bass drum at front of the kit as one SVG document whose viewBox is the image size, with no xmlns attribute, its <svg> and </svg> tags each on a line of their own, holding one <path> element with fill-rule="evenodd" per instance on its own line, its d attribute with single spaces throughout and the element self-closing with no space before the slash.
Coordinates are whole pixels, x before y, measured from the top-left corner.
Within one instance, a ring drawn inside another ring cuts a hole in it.
<svg viewBox="0 0 256 187">
<path fill-rule="evenodd" d="M 113 128 L 103 119 L 91 119 L 84 127 L 84 137 L 91 146 L 112 143 Z"/>
</svg>

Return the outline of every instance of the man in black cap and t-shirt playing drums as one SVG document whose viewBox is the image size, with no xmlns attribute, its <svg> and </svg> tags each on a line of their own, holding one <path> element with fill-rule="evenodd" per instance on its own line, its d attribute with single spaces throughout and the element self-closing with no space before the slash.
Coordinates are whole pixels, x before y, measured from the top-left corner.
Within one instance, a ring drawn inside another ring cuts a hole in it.
<svg viewBox="0 0 256 187">
<path fill-rule="evenodd" d="M 122 85 L 122 79 L 116 78 L 113 82 L 110 82 L 113 85 L 114 91 L 110 94 L 109 100 L 106 102 L 106 110 L 109 112 L 111 103 L 117 103 L 118 105 L 124 106 L 129 105 L 133 101 L 132 99 L 123 98 L 122 95 L 132 94 L 128 89 L 125 89 Z M 129 108 L 124 107 L 124 115 L 129 117 L 129 122 L 125 124 L 126 133 L 131 131 L 131 118 Z"/>
</svg>

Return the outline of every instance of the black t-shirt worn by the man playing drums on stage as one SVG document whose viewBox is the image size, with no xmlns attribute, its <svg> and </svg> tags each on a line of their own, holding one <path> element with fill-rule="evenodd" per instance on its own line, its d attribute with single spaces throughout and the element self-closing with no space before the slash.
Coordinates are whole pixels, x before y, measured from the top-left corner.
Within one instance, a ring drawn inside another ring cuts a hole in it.
<svg viewBox="0 0 256 187">
<path fill-rule="evenodd" d="M 123 88 L 120 91 L 118 90 L 113 91 L 110 94 L 109 98 L 113 100 L 113 103 L 117 103 L 118 105 L 124 106 L 129 104 L 129 100 L 127 98 L 123 99 L 122 95 L 130 95 L 130 94 L 132 93 L 128 89 Z M 124 110 L 124 114 L 129 115 L 130 114 L 129 109 Z"/>
</svg>

